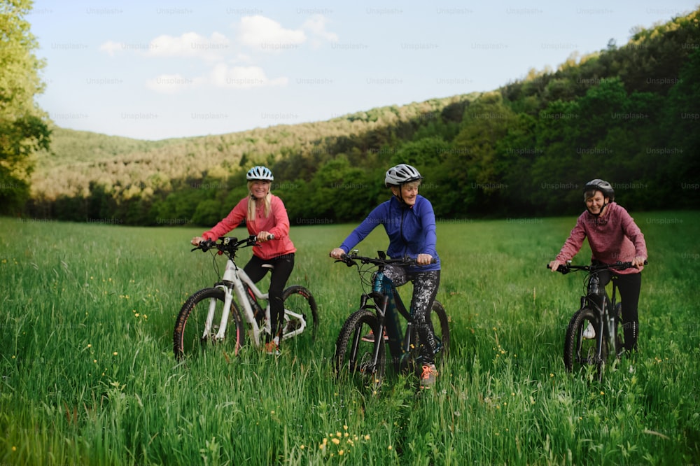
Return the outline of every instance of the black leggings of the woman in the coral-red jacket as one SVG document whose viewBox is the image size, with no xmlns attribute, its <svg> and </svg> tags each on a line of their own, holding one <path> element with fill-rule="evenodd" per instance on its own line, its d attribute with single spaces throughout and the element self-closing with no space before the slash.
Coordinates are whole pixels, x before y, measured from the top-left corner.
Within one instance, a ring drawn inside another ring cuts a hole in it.
<svg viewBox="0 0 700 466">
<path fill-rule="evenodd" d="M 258 283 L 270 270 L 269 267 L 262 267 L 265 264 L 274 266 L 272 275 L 269 278 L 269 323 L 272 336 L 281 334 L 282 323 L 284 321 L 284 302 L 282 293 L 287 284 L 289 276 L 294 269 L 294 253 L 280 255 L 272 259 L 261 259 L 253 255 L 248 261 L 243 271 L 251 278 L 253 283 Z"/>
</svg>

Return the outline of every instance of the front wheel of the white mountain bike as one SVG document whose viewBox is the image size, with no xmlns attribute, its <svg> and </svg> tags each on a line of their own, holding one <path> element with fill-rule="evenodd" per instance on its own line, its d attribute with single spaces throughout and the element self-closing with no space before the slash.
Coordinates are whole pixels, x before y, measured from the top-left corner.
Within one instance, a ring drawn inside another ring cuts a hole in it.
<svg viewBox="0 0 700 466">
<path fill-rule="evenodd" d="M 220 288 L 204 288 L 183 304 L 173 332 L 173 351 L 177 360 L 200 355 L 217 342 L 224 297 L 225 293 Z M 232 353 L 237 355 L 244 343 L 245 329 L 235 302 L 231 302 L 226 335 L 226 339 L 232 342 Z"/>
</svg>

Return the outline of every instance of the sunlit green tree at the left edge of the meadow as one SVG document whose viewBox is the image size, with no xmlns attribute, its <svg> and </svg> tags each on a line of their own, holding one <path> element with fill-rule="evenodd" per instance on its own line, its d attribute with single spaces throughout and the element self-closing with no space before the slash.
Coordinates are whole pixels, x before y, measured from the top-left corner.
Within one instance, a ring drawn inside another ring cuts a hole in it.
<svg viewBox="0 0 700 466">
<path fill-rule="evenodd" d="M 18 213 L 29 199 L 31 154 L 48 150 L 48 117 L 34 103 L 44 63 L 25 15 L 31 0 L 0 0 L 0 213 Z"/>
</svg>

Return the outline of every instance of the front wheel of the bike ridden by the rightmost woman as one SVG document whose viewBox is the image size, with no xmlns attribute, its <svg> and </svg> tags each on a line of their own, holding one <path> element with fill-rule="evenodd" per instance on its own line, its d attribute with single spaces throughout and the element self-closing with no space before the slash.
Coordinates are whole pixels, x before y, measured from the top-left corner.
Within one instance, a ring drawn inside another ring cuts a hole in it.
<svg viewBox="0 0 700 466">
<path fill-rule="evenodd" d="M 579 309 L 571 318 L 564 339 L 566 369 L 569 372 L 592 370 L 597 381 L 603 378 L 605 360 L 608 359 L 608 341 L 597 330 L 599 319 L 598 313 L 592 309 Z M 592 334 L 591 330 L 594 330 Z"/>
</svg>

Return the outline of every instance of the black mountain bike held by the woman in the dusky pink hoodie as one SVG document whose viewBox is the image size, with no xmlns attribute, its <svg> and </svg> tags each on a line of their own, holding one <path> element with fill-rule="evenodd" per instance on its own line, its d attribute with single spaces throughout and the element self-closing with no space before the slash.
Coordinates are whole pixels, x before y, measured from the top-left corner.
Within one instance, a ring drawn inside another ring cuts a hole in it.
<svg viewBox="0 0 700 466">
<path fill-rule="evenodd" d="M 564 365 L 569 372 L 593 370 L 596 380 L 601 381 L 608 356 L 613 354 L 617 357 L 622 353 L 623 332 L 617 331 L 622 320 L 622 303 L 617 302 L 617 277 L 612 274 L 610 299 L 605 287 L 601 286 L 598 274 L 603 270 L 623 270 L 631 267 L 632 262 L 572 265 L 569 261 L 556 269 L 561 274 L 581 270 L 587 273 L 586 295 L 581 297 L 580 309 L 573 314 L 566 327 Z"/>
</svg>

